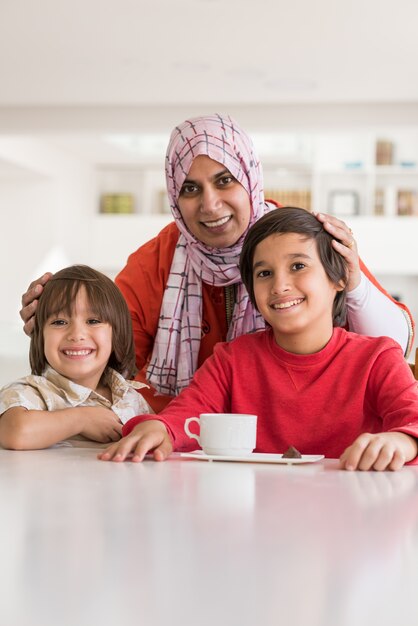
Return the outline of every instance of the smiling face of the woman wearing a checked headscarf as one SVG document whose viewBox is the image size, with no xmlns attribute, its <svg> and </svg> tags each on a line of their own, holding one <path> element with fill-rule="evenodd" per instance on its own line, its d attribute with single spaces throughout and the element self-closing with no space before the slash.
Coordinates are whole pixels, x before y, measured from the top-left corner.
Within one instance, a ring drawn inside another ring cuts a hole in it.
<svg viewBox="0 0 418 626">
<path fill-rule="evenodd" d="M 248 228 L 250 198 L 224 165 L 196 157 L 182 185 L 178 206 L 189 231 L 213 248 L 233 246 Z"/>
</svg>

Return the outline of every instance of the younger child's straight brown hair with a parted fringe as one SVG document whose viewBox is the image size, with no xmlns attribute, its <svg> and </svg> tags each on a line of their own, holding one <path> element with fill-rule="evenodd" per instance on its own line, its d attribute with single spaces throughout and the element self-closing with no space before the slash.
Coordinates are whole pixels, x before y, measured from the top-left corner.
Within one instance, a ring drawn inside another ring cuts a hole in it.
<svg viewBox="0 0 418 626">
<path fill-rule="evenodd" d="M 136 372 L 132 321 L 124 297 L 115 283 L 87 265 L 66 267 L 46 283 L 39 298 L 31 336 L 29 362 L 32 374 L 41 375 L 47 365 L 44 352 L 44 326 L 51 315 L 71 315 L 81 287 L 97 317 L 112 327 L 112 353 L 108 365 L 125 378 Z"/>
</svg>

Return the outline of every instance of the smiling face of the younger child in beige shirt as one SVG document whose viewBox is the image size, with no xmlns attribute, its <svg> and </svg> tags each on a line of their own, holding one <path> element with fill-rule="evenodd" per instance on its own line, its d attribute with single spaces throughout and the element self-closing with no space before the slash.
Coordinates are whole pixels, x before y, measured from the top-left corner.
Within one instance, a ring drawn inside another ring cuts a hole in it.
<svg viewBox="0 0 418 626">
<path fill-rule="evenodd" d="M 50 366 L 73 382 L 96 389 L 112 352 L 112 327 L 91 310 L 84 286 L 71 314 L 49 317 L 43 335 Z"/>
</svg>

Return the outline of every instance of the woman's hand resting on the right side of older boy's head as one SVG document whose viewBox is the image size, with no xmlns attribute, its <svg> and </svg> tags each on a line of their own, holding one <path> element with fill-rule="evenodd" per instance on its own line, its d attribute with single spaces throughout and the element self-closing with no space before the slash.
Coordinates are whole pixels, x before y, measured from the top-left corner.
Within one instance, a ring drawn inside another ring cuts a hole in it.
<svg viewBox="0 0 418 626">
<path fill-rule="evenodd" d="M 332 245 L 347 261 L 349 273 L 347 291 L 352 291 L 360 284 L 361 280 L 360 259 L 353 232 L 345 222 L 334 215 L 326 215 L 325 213 L 314 213 L 314 215 L 323 224 L 325 230 L 335 237 Z"/>
</svg>

